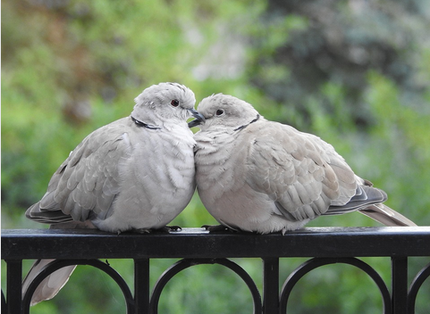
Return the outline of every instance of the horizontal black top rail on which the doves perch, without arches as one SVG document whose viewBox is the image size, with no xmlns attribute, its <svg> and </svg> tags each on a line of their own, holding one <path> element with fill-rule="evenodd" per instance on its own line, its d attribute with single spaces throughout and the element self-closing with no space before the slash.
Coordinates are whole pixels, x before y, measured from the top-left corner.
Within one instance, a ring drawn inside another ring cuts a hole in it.
<svg viewBox="0 0 430 314">
<path fill-rule="evenodd" d="M 256 235 L 183 228 L 114 235 L 89 229 L 2 229 L 2 259 L 430 256 L 430 227 L 306 227 Z"/>
</svg>

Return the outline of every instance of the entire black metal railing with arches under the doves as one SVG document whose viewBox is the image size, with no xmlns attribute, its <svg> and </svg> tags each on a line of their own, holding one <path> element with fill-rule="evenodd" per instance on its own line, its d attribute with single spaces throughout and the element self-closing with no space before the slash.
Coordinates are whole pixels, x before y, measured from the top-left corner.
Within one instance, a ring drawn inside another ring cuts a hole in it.
<svg viewBox="0 0 430 314">
<path fill-rule="evenodd" d="M 209 234 L 201 228 L 148 235 L 113 235 L 97 230 L 4 229 L 2 260 L 7 265 L 7 286 L 6 296 L 2 291 L 2 312 L 28 313 L 31 295 L 46 276 L 69 265 L 91 265 L 105 271 L 119 285 L 127 313 L 157 313 L 160 295 L 172 277 L 195 265 L 219 264 L 232 269 L 248 285 L 254 313 L 286 313 L 290 293 L 301 277 L 327 264 L 344 263 L 361 269 L 375 282 L 382 296 L 383 313 L 414 313 L 417 293 L 430 277 L 430 263 L 427 263 L 409 283 L 409 257 L 415 256 L 430 257 L 430 227 L 308 227 L 285 236 Z M 280 291 L 279 261 L 291 257 L 310 259 L 291 273 Z M 392 285 L 385 285 L 375 269 L 358 257 L 390 257 Z M 166 269 L 151 293 L 149 260 L 167 258 L 181 260 Z M 231 258 L 263 260 L 261 293 L 249 274 Z M 57 260 L 41 271 L 22 298 L 22 260 L 30 259 Z M 102 259 L 134 260 L 134 291 Z"/>
</svg>

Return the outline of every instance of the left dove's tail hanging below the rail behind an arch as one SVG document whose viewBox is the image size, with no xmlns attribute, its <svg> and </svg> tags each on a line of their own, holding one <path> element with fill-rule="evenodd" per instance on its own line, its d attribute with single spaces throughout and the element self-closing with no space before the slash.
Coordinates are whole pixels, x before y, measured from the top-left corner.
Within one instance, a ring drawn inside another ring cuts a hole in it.
<svg viewBox="0 0 430 314">
<path fill-rule="evenodd" d="M 36 260 L 30 269 L 29 274 L 24 278 L 22 282 L 22 297 L 29 289 L 31 282 L 38 276 L 40 271 L 46 267 L 53 260 Z M 46 277 L 40 285 L 36 288 L 33 296 L 31 297 L 30 305 L 36 305 L 38 302 L 50 300 L 55 297 L 61 288 L 67 283 L 69 277 L 71 277 L 73 270 L 76 265 L 67 266 L 63 269 L 58 269 L 48 277 Z"/>
</svg>

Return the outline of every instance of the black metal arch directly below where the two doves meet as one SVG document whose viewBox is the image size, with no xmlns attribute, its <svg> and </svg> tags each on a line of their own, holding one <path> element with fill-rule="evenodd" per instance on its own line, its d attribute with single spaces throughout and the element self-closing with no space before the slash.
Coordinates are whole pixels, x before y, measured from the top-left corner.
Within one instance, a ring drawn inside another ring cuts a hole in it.
<svg viewBox="0 0 430 314">
<path fill-rule="evenodd" d="M 156 285 L 154 286 L 154 290 L 151 296 L 150 301 L 150 313 L 156 314 L 158 313 L 158 302 L 160 301 L 160 295 L 163 292 L 164 286 L 172 279 L 176 274 L 181 272 L 183 269 L 188 269 L 191 266 L 202 265 L 202 264 L 219 264 L 223 265 L 228 269 L 232 269 L 240 278 L 248 285 L 249 291 L 252 294 L 252 299 L 254 302 L 254 313 L 261 313 L 263 310 L 261 295 L 258 292 L 257 285 L 254 280 L 249 276 L 249 274 L 242 269 L 238 264 L 233 262 L 232 260 L 227 259 L 198 259 L 198 260 L 190 260 L 184 259 L 179 260 L 174 263 L 169 269 L 165 270 L 163 275 L 158 278 Z"/>
</svg>

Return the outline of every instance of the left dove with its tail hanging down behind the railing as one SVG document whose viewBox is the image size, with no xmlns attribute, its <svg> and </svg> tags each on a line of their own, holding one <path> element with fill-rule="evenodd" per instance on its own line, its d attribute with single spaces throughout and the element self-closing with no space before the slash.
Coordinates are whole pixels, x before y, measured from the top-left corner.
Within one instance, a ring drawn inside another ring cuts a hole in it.
<svg viewBox="0 0 430 314">
<path fill-rule="evenodd" d="M 135 98 L 131 115 L 98 128 L 55 171 L 47 192 L 27 211 L 52 228 L 98 228 L 112 233 L 164 228 L 195 191 L 193 147 L 188 128 L 195 96 L 177 83 L 160 83 Z M 38 260 L 22 293 L 52 260 Z M 46 277 L 31 305 L 49 300 L 75 266 Z"/>
</svg>

